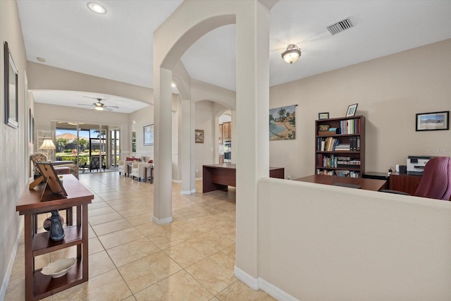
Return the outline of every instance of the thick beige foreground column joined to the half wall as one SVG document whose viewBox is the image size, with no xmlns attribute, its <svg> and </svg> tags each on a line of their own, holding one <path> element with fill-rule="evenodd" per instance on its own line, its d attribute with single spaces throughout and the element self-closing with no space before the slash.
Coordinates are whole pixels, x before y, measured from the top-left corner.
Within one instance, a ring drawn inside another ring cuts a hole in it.
<svg viewBox="0 0 451 301">
<path fill-rule="evenodd" d="M 257 180 L 269 176 L 269 11 L 242 1 L 237 14 L 237 237 L 235 275 L 258 288 Z M 243 279 L 244 272 L 249 281 Z M 250 278 L 249 278 L 250 276 Z"/>
</svg>

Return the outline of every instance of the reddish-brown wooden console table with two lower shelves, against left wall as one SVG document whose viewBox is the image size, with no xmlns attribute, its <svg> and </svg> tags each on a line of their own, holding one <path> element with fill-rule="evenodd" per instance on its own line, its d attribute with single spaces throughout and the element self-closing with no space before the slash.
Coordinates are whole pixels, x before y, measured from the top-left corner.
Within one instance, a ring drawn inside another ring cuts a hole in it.
<svg viewBox="0 0 451 301">
<path fill-rule="evenodd" d="M 63 186 L 67 197 L 46 194 L 45 201 L 41 201 L 44 185 L 31 190 L 27 185 L 16 206 L 16 211 L 25 219 L 25 300 L 40 300 L 88 280 L 87 204 L 94 195 L 73 175 L 63 175 Z M 77 207 L 77 224 L 64 228 L 63 240 L 51 240 L 48 231 L 35 234 L 37 214 L 74 206 Z M 51 278 L 42 274 L 41 269 L 35 270 L 35 257 L 72 246 L 77 246 L 78 260 L 68 274 Z"/>
</svg>

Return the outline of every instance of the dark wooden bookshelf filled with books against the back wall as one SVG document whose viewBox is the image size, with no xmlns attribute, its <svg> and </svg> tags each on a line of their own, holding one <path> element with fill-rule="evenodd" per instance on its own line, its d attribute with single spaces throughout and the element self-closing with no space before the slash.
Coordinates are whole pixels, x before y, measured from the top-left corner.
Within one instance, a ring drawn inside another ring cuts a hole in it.
<svg viewBox="0 0 451 301">
<path fill-rule="evenodd" d="M 365 173 L 365 117 L 315 121 L 315 174 L 361 178 Z"/>
</svg>

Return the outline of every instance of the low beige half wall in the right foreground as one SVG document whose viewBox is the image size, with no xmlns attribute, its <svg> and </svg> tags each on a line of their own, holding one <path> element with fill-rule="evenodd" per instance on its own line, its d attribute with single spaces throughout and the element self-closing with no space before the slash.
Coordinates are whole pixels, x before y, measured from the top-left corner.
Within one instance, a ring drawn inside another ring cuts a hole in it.
<svg viewBox="0 0 451 301">
<path fill-rule="evenodd" d="M 450 202 L 270 178 L 258 191 L 259 283 L 280 300 L 451 300 Z"/>
</svg>

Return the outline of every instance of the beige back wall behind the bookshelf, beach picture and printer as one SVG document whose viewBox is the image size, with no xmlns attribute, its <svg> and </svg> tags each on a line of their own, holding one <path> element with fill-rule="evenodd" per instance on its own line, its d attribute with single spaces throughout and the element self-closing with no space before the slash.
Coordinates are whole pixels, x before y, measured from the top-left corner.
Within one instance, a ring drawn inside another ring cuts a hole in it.
<svg viewBox="0 0 451 301">
<path fill-rule="evenodd" d="M 296 62 L 302 63 L 302 58 Z M 298 104 L 296 140 L 271 141 L 270 165 L 285 177 L 314 173 L 318 113 L 366 116 L 366 171 L 387 172 L 408 155 L 451 156 L 449 130 L 415 131 L 416 113 L 451 109 L 451 39 L 271 87 L 270 107 Z"/>
</svg>

